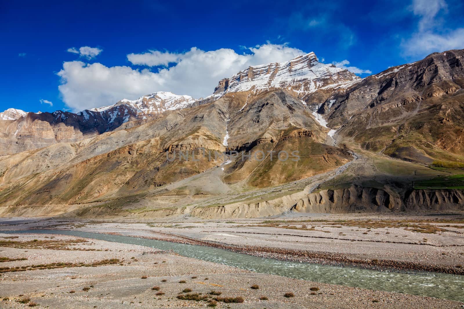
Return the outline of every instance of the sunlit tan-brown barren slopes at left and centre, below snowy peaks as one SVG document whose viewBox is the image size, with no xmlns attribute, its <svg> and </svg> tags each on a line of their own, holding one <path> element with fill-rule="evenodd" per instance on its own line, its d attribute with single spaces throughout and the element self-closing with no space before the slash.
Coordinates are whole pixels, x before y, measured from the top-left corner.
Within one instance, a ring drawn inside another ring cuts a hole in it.
<svg viewBox="0 0 464 309">
<path fill-rule="evenodd" d="M 351 159 L 347 151 L 321 144 L 328 130 L 318 125 L 307 107 L 291 93 L 276 89 L 257 96 L 245 95 L 226 95 L 199 107 L 164 112 L 155 120 L 126 130 L 3 158 L 1 203 L 103 201 L 147 192 L 199 174 L 227 159 L 232 162 L 224 165 L 221 176 L 226 182 L 249 178 L 245 187 L 261 187 L 308 177 Z M 224 145 L 227 131 L 231 136 L 228 147 Z M 255 160 L 244 162 L 241 156 L 203 156 L 203 151 L 213 154 L 227 148 L 252 153 L 263 150 L 266 154 L 268 150 L 286 150 L 289 155 L 296 150 L 302 160 L 289 158 L 284 162 L 266 156 L 257 164 Z M 180 151 L 188 154 L 189 160 L 180 158 Z M 193 161 L 192 151 L 198 161 Z M 282 170 L 287 172 L 282 174 Z M 270 181 L 272 173 L 282 175 Z M 184 192 L 195 194 L 189 188 Z"/>
</svg>

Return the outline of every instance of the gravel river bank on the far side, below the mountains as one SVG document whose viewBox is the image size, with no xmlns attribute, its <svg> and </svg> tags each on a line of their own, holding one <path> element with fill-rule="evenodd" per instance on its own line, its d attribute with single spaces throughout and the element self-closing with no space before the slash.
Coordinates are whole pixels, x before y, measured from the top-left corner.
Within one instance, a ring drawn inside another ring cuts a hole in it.
<svg viewBox="0 0 464 309">
<path fill-rule="evenodd" d="M 183 217 L 149 222 L 17 218 L 0 220 L 2 228 L 112 233 L 290 261 L 464 274 L 462 213 L 287 214 L 269 219 Z"/>
</svg>

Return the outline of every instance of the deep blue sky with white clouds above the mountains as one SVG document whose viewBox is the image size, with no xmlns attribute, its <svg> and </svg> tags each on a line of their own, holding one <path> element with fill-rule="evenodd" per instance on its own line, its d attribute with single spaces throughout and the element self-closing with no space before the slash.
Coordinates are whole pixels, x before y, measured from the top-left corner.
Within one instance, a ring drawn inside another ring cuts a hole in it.
<svg viewBox="0 0 464 309">
<path fill-rule="evenodd" d="M 198 98 L 248 65 L 310 51 L 367 76 L 464 48 L 462 1 L 96 2 L 1 1 L 0 111 Z"/>
</svg>

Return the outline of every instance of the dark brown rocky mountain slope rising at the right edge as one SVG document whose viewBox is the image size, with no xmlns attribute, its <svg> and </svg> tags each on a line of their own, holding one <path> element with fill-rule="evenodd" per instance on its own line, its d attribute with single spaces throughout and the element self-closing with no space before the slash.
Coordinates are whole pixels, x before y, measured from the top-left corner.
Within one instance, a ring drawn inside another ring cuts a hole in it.
<svg viewBox="0 0 464 309">
<path fill-rule="evenodd" d="M 464 50 L 450 50 L 346 88 L 316 91 L 305 101 L 338 129 L 339 140 L 412 162 L 462 162 L 463 88 Z"/>
</svg>

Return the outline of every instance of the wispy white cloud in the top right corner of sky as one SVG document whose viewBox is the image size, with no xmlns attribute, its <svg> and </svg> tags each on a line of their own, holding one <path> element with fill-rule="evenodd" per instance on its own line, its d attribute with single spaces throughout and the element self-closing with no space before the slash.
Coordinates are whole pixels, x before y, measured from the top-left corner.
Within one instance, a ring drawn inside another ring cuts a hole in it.
<svg viewBox="0 0 464 309">
<path fill-rule="evenodd" d="M 418 30 L 401 44 L 406 56 L 425 57 L 432 52 L 464 47 L 464 28 L 446 29 L 440 19 L 447 7 L 445 0 L 412 1 L 412 13 L 419 16 L 419 22 Z"/>
</svg>

